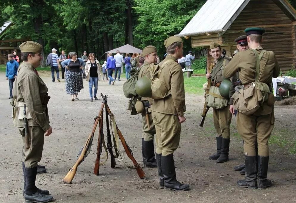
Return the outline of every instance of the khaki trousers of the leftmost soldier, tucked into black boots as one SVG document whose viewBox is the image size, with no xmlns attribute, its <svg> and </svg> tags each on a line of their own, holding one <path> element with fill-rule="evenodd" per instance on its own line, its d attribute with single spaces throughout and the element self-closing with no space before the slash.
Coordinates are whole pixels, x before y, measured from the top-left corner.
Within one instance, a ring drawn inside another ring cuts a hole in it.
<svg viewBox="0 0 296 203">
<path fill-rule="evenodd" d="M 37 126 L 28 127 L 28 140 L 29 149 L 26 149 L 25 128 L 18 128 L 23 139 L 23 162 L 26 168 L 37 167 L 37 163 L 41 160 L 43 144 L 44 144 L 44 131 Z"/>
</svg>

